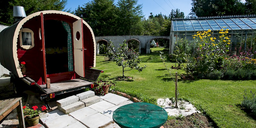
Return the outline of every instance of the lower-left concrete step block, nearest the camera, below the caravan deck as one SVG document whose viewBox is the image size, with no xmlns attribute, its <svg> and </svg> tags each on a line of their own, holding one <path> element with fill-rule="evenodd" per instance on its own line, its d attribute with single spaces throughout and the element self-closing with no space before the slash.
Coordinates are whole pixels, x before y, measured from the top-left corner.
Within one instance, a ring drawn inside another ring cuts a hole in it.
<svg viewBox="0 0 256 128">
<path fill-rule="evenodd" d="M 67 105 L 67 106 L 64 106 L 64 107 L 58 107 L 60 109 L 60 111 L 62 111 L 63 113 L 65 114 L 68 114 L 68 113 L 71 113 L 71 112 L 74 112 L 78 109 L 81 109 L 81 108 L 84 108 L 84 102 L 81 102 L 81 101 L 77 101 L 75 103 L 72 103 L 70 105 Z"/>
</svg>

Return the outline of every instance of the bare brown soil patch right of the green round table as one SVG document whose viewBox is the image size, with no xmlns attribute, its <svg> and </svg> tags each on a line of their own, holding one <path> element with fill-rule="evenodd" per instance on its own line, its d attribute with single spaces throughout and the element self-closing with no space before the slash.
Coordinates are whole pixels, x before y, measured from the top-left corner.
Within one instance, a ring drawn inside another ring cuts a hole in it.
<svg viewBox="0 0 256 128">
<path fill-rule="evenodd" d="M 167 120 L 164 128 L 213 128 L 212 123 L 202 113 Z"/>
</svg>

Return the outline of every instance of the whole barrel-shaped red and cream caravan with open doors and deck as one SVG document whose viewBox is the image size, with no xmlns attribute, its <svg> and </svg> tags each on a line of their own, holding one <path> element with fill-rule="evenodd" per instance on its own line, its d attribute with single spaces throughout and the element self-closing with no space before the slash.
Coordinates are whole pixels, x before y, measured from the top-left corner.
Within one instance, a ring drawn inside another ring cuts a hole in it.
<svg viewBox="0 0 256 128">
<path fill-rule="evenodd" d="M 36 12 L 5 28 L 0 33 L 0 60 L 12 72 L 13 78 L 35 84 L 46 94 L 72 91 L 78 86 L 92 84 L 78 80 L 80 77 L 98 78 L 91 68 L 96 63 L 92 28 L 83 19 L 68 12 Z M 21 71 L 21 62 L 26 63 L 25 73 Z M 49 80 L 51 87 L 47 89 Z M 71 84 L 69 81 L 65 85 L 63 81 L 67 80 L 80 83 Z"/>
</svg>

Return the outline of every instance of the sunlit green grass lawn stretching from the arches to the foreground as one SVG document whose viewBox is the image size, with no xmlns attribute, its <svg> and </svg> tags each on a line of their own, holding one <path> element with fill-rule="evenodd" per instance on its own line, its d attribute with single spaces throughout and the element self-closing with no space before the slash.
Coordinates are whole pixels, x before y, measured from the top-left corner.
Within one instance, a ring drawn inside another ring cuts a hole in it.
<svg viewBox="0 0 256 128">
<path fill-rule="evenodd" d="M 147 65 L 142 72 L 125 68 L 128 71 L 125 71 L 124 75 L 132 76 L 132 82 L 117 81 L 116 77 L 122 76 L 122 67 L 118 67 L 116 62 L 105 61 L 105 56 L 97 56 L 96 69 L 104 70 L 99 79 L 112 80 L 119 91 L 141 95 L 142 98 L 174 97 L 175 83 L 159 56 L 159 51 L 163 48 L 151 48 L 151 50 L 151 54 L 140 55 L 143 62 L 140 65 Z M 175 63 L 166 62 L 168 67 L 175 65 Z M 175 72 L 185 73 L 184 70 L 172 69 L 173 78 Z M 179 98 L 190 101 L 201 112 L 208 115 L 218 127 L 256 127 L 256 121 L 239 107 L 245 89 L 247 92 L 250 90 L 256 92 L 255 80 L 179 80 L 178 89 Z"/>
</svg>

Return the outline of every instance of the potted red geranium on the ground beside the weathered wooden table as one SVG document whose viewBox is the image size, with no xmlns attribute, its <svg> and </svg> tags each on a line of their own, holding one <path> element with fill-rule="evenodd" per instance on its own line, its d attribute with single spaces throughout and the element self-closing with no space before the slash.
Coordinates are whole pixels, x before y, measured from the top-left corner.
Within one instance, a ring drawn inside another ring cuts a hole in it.
<svg viewBox="0 0 256 128">
<path fill-rule="evenodd" d="M 32 108 L 33 109 L 23 106 L 24 119 L 28 122 L 29 126 L 35 126 L 39 123 L 39 113 L 41 113 L 41 111 L 36 110 L 38 108 L 37 106 L 33 106 Z M 44 105 L 41 108 L 42 111 L 46 110 Z"/>
</svg>

